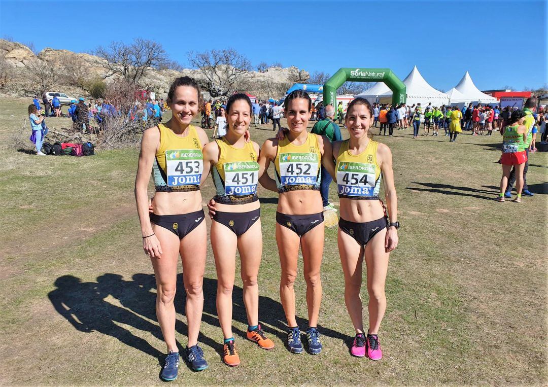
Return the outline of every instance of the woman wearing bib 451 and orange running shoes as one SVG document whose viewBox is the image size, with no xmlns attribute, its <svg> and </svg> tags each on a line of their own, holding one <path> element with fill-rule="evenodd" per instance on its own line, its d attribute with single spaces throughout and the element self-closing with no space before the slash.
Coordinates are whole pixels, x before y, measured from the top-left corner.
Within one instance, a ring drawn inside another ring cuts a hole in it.
<svg viewBox="0 0 548 387">
<path fill-rule="evenodd" d="M 246 94 L 234 94 L 226 103 L 228 130 L 221 139 L 204 147 L 202 180 L 211 170 L 216 196 L 211 224 L 211 245 L 217 269 L 217 314 L 224 335 L 222 360 L 240 363 L 232 335 L 232 288 L 236 249 L 241 260 L 243 301 L 247 312 L 247 338 L 262 349 L 274 348 L 259 325 L 257 276 L 262 255 L 261 210 L 257 184 L 262 170 L 257 162 L 259 145 L 246 141 L 252 105 Z"/>
</svg>

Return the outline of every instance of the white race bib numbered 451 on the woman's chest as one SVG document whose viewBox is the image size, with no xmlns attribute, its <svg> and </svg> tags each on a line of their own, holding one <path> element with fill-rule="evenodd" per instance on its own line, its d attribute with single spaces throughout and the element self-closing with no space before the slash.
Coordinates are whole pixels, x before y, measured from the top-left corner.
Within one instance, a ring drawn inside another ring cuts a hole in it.
<svg viewBox="0 0 548 387">
<path fill-rule="evenodd" d="M 226 195 L 253 195 L 257 192 L 259 164 L 254 161 L 236 161 L 222 164 L 225 170 Z"/>
</svg>

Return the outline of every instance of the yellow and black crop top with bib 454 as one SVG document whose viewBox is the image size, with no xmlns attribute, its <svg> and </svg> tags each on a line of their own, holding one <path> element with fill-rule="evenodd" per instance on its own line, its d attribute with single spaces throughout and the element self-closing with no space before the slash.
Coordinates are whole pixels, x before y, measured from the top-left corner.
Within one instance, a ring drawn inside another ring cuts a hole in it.
<svg viewBox="0 0 548 387">
<path fill-rule="evenodd" d="M 339 197 L 357 200 L 379 198 L 381 169 L 376 157 L 379 143 L 369 140 L 366 150 L 352 155 L 349 140 L 343 141 L 335 165 Z"/>
</svg>

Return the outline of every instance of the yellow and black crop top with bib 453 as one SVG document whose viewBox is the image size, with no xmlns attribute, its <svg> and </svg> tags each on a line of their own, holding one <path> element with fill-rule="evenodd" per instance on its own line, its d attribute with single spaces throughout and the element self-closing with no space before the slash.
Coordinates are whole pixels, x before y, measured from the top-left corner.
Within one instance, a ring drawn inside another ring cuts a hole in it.
<svg viewBox="0 0 548 387">
<path fill-rule="evenodd" d="M 198 191 L 203 172 L 202 143 L 196 128 L 179 137 L 173 130 L 158 124 L 160 146 L 152 165 L 156 192 Z"/>
</svg>

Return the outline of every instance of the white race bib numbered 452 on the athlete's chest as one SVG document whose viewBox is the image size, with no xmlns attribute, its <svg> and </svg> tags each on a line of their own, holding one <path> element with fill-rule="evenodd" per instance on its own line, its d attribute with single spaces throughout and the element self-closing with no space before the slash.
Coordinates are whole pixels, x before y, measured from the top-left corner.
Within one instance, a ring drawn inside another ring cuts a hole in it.
<svg viewBox="0 0 548 387">
<path fill-rule="evenodd" d="M 279 174 L 282 185 L 314 185 L 318 175 L 317 153 L 281 153 Z"/>
</svg>

